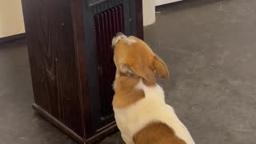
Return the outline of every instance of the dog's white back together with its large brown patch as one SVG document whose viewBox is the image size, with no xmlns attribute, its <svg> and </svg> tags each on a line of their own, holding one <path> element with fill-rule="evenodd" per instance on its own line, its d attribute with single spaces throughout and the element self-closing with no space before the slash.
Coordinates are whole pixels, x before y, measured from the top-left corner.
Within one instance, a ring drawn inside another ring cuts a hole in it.
<svg viewBox="0 0 256 144">
<path fill-rule="evenodd" d="M 146 86 L 140 80 L 134 90 L 143 90 L 144 98 L 125 109 L 114 107 L 118 129 L 126 143 L 194 143 L 186 126 L 166 104 L 161 86 Z"/>
</svg>

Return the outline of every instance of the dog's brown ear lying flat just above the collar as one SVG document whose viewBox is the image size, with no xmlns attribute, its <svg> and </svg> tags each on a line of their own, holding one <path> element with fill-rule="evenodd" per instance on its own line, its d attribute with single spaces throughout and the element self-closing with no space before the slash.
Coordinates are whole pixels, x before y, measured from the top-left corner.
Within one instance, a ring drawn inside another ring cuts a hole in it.
<svg viewBox="0 0 256 144">
<path fill-rule="evenodd" d="M 138 63 L 134 65 L 120 64 L 119 70 L 126 76 L 141 77 L 143 82 L 148 85 L 154 85 L 156 82 L 154 78 L 154 70 L 150 69 L 150 67 L 146 65 L 139 65 Z"/>
</svg>

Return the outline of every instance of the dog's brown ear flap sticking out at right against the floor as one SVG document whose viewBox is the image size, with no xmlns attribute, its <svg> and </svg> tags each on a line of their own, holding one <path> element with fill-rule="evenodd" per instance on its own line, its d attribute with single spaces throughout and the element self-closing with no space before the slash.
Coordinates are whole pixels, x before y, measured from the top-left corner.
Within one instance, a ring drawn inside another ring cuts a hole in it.
<svg viewBox="0 0 256 144">
<path fill-rule="evenodd" d="M 157 55 L 154 55 L 153 66 L 156 74 L 158 75 L 158 78 L 167 79 L 170 77 L 166 63 L 163 62 L 162 59 L 159 58 Z"/>
</svg>

